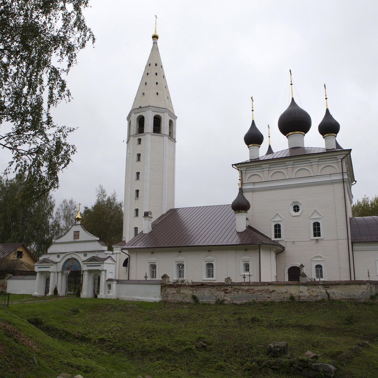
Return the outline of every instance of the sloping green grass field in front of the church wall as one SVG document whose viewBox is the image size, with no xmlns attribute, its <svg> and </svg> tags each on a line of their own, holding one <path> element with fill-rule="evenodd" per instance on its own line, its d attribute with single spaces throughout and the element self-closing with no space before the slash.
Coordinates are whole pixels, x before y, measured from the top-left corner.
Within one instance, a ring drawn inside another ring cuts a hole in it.
<svg viewBox="0 0 378 378">
<path fill-rule="evenodd" d="M 340 367 L 338 376 L 378 376 L 376 302 L 28 301 L 28 296 L 11 295 L 9 308 L 0 308 L 2 377 L 47 378 L 62 372 L 84 378 L 260 377 L 260 370 L 244 368 L 253 357 L 265 356 L 271 342 L 288 341 L 291 357 L 311 350 L 329 362 L 364 340 L 369 347 Z M 82 337 L 76 338 L 76 333 Z M 200 339 L 206 347 L 198 347 Z"/>
</svg>

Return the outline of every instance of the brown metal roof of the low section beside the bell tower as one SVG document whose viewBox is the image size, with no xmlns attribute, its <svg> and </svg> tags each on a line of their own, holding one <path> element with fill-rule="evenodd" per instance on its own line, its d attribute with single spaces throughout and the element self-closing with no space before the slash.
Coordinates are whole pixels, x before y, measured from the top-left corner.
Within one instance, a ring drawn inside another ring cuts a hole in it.
<svg viewBox="0 0 378 378">
<path fill-rule="evenodd" d="M 236 232 L 231 205 L 170 209 L 152 222 L 152 231 L 142 232 L 125 248 L 168 248 L 269 244 L 283 247 L 252 227 Z"/>
</svg>

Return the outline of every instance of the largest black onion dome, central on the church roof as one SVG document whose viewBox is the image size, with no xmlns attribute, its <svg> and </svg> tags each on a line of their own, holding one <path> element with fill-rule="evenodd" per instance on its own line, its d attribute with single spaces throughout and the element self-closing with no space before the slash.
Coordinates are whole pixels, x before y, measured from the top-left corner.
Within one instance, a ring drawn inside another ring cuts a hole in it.
<svg viewBox="0 0 378 378">
<path fill-rule="evenodd" d="M 291 98 L 290 105 L 278 119 L 278 128 L 285 136 L 295 132 L 306 134 L 311 128 L 311 117 Z"/>
</svg>

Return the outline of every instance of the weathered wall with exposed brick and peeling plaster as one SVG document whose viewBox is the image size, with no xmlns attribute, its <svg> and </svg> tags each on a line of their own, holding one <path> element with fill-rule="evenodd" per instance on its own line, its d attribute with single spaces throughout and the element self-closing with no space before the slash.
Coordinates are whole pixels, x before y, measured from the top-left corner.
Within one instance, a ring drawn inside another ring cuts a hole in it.
<svg viewBox="0 0 378 378">
<path fill-rule="evenodd" d="M 378 281 L 324 281 L 308 282 L 222 282 L 166 283 L 161 285 L 161 300 L 193 302 L 195 295 L 206 303 L 244 303 L 250 301 L 297 301 L 335 299 L 341 301 L 368 301 L 378 293 Z"/>
</svg>

